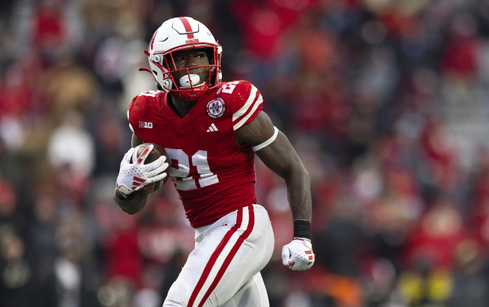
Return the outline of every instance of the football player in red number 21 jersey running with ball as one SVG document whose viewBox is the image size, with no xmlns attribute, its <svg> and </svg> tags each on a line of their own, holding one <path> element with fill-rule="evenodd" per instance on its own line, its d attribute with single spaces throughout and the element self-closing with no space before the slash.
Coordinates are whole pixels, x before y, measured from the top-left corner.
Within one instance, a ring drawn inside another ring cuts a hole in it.
<svg viewBox="0 0 489 307">
<path fill-rule="evenodd" d="M 172 18 L 145 50 L 157 91 L 141 93 L 128 107 L 132 147 L 121 162 L 114 200 L 129 214 L 140 211 L 142 188 L 170 178 L 195 228 L 188 256 L 164 306 L 268 306 L 260 270 L 274 249 L 268 214 L 255 196 L 255 153 L 285 179 L 294 235 L 283 246 L 283 264 L 309 269 L 309 177 L 287 137 L 262 110 L 263 98 L 248 81 L 222 81 L 222 47 L 201 22 Z M 156 143 L 165 157 L 144 164 Z M 142 183 L 142 184 L 141 184 Z"/>
</svg>

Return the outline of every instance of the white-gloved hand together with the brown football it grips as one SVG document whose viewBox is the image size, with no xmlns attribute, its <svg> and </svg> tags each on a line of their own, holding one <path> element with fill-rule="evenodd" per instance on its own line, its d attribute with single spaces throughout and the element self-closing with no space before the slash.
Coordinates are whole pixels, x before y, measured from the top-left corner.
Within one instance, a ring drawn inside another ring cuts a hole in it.
<svg viewBox="0 0 489 307">
<path fill-rule="evenodd" d="M 168 155 L 161 146 L 144 143 L 124 155 L 117 177 L 117 189 L 128 195 L 141 189 L 154 192 L 163 186 L 170 173 Z"/>
</svg>

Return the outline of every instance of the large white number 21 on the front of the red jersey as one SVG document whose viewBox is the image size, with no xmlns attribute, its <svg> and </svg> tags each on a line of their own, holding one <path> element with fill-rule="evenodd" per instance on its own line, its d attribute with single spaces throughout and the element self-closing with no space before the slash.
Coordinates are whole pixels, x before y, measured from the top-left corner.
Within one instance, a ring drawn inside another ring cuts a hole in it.
<svg viewBox="0 0 489 307">
<path fill-rule="evenodd" d="M 197 151 L 192 159 L 181 149 L 165 148 L 165 151 L 171 159 L 170 177 L 177 189 L 188 191 L 219 182 L 218 175 L 210 171 L 207 151 Z"/>
</svg>

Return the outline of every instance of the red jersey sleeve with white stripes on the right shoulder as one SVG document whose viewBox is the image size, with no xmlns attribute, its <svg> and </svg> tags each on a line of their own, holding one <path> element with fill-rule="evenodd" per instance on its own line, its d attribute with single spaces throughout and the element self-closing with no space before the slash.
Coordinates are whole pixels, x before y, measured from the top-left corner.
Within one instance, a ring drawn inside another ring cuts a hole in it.
<svg viewBox="0 0 489 307">
<path fill-rule="evenodd" d="M 263 109 L 263 98 L 260 91 L 252 83 L 248 81 L 235 82 L 236 94 L 231 106 L 234 131 L 251 123 Z M 232 83 L 235 82 L 228 83 L 228 87 L 231 87 Z"/>
</svg>

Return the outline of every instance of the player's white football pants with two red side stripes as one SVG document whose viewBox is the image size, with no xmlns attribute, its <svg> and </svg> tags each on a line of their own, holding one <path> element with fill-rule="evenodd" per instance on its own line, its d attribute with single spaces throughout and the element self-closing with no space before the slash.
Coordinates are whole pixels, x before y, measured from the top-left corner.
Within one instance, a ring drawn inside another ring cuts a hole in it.
<svg viewBox="0 0 489 307">
<path fill-rule="evenodd" d="M 195 249 L 163 307 L 269 306 L 260 270 L 275 239 L 265 208 L 249 205 L 195 229 Z"/>
</svg>

